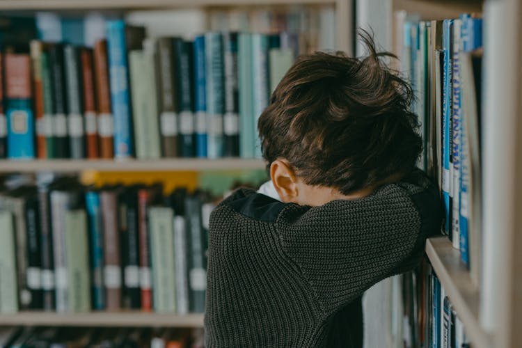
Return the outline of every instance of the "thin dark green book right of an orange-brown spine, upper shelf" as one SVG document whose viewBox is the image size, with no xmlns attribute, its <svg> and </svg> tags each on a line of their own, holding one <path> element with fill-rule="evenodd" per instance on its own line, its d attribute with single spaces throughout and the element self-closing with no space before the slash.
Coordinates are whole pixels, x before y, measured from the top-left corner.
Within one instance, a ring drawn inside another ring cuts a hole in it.
<svg viewBox="0 0 522 348">
<path fill-rule="evenodd" d="M 49 63 L 49 53 L 42 52 L 42 90 L 43 90 L 43 132 L 45 134 L 45 148 L 47 158 L 54 158 L 54 129 L 53 129 L 53 84 L 51 79 L 51 65 Z"/>
</svg>

